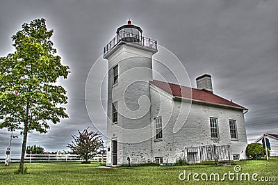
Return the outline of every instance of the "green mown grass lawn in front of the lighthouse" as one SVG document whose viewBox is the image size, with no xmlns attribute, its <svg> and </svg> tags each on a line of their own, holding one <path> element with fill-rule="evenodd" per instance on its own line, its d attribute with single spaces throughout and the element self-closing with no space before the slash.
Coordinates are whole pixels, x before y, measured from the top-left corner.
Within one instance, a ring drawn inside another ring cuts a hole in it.
<svg viewBox="0 0 278 185">
<path fill-rule="evenodd" d="M 250 175 L 258 173 L 260 179 L 275 177 L 278 181 L 278 158 L 270 161 L 236 161 L 240 165 L 241 172 L 249 172 Z M 100 163 L 26 163 L 28 174 L 15 174 L 19 163 L 11 163 L 4 166 L 0 163 L 0 184 L 277 184 L 275 182 L 196 182 L 193 177 L 190 181 L 179 180 L 179 174 L 186 173 L 211 174 L 218 172 L 220 179 L 225 172 L 234 172 L 234 166 L 216 166 L 211 164 L 199 164 L 188 166 L 138 166 L 117 168 L 96 168 Z M 199 177 L 200 178 L 200 177 Z"/>
</svg>

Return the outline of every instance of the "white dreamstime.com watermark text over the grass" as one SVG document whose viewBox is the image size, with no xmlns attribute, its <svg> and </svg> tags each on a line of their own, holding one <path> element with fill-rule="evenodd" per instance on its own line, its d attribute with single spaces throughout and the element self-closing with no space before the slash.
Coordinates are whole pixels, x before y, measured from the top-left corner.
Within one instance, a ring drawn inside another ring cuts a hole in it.
<svg viewBox="0 0 278 185">
<path fill-rule="evenodd" d="M 234 167 L 234 171 L 225 172 L 222 175 L 218 172 L 212 172 L 210 174 L 208 173 L 192 173 L 192 172 L 186 172 L 186 170 L 183 170 L 179 174 L 179 180 L 181 181 L 211 181 L 211 182 L 223 182 L 225 180 L 227 181 L 254 181 L 254 182 L 275 182 L 275 177 L 260 177 L 258 173 L 252 173 L 249 172 L 241 172 L 241 167 L 236 165 Z"/>
</svg>

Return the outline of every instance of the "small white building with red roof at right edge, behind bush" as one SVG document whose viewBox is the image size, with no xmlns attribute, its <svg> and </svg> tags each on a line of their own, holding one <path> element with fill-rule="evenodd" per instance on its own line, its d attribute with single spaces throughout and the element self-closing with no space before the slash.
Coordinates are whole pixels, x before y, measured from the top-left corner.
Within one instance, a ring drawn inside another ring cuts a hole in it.
<svg viewBox="0 0 278 185">
<path fill-rule="evenodd" d="M 278 156 L 278 134 L 265 133 L 265 134 L 263 134 L 263 136 L 265 136 L 265 138 L 267 138 L 269 140 L 270 156 Z M 263 142 L 264 142 L 263 136 L 256 139 L 255 143 L 263 144 Z"/>
</svg>

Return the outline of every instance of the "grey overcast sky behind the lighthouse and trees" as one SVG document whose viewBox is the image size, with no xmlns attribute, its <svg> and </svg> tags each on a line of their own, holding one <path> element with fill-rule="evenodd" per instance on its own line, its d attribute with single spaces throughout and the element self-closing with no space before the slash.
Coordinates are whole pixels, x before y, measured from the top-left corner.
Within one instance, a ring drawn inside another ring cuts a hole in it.
<svg viewBox="0 0 278 185">
<path fill-rule="evenodd" d="M 47 134 L 28 134 L 27 145 L 68 150 L 77 129 L 93 129 L 85 107 L 85 81 L 103 47 L 129 18 L 143 35 L 179 58 L 194 88 L 196 77 L 211 74 L 215 94 L 249 108 L 249 143 L 265 132 L 278 134 L 277 9 L 277 0 L 1 1 L 0 56 L 13 52 L 10 36 L 24 22 L 44 17 L 54 29 L 54 47 L 72 72 L 60 82 L 67 89 L 70 118 L 51 124 Z M 101 72 L 106 67 L 104 61 Z M 106 118 L 95 120 L 106 127 Z M 6 129 L 0 130 L 0 157 L 9 136 Z M 21 143 L 22 136 L 13 139 L 12 153 L 19 154 Z"/>
</svg>

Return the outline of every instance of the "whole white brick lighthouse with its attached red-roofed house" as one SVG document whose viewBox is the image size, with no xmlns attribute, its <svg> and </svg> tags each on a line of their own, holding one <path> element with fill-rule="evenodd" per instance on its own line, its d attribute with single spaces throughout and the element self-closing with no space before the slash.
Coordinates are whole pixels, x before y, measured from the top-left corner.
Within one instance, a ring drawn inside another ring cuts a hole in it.
<svg viewBox="0 0 278 185">
<path fill-rule="evenodd" d="M 108 60 L 107 166 L 247 159 L 247 108 L 213 94 L 211 75 L 197 88 L 156 81 L 156 40 L 127 25 L 104 47 Z"/>
</svg>

